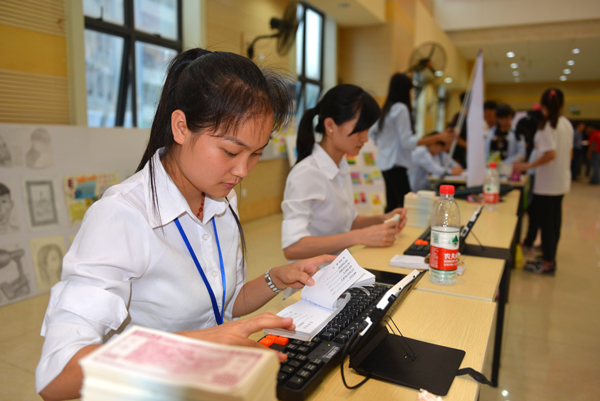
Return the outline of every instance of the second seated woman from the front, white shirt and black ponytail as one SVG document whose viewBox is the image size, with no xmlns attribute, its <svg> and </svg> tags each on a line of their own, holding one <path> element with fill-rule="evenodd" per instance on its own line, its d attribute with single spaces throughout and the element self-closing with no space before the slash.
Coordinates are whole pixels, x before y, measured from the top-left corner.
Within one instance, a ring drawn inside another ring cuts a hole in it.
<svg viewBox="0 0 600 401">
<path fill-rule="evenodd" d="M 282 248 L 290 260 L 339 253 L 353 245 L 390 246 L 404 227 L 406 211 L 360 216 L 354 206 L 350 167 L 369 140 L 367 130 L 379 117 L 375 99 L 355 85 L 338 85 L 302 116 L 298 161 L 285 185 Z M 316 127 L 313 120 L 318 116 Z M 322 134 L 315 143 L 315 131 Z M 395 214 L 399 224 L 384 223 Z"/>
</svg>

